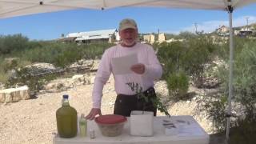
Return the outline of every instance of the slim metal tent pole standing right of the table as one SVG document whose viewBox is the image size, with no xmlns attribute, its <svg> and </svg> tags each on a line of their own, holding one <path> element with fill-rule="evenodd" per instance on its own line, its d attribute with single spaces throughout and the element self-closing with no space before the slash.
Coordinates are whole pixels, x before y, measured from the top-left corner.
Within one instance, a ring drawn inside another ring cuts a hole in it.
<svg viewBox="0 0 256 144">
<path fill-rule="evenodd" d="M 234 45 L 233 45 L 233 26 L 232 26 L 232 6 L 228 6 L 229 8 L 229 21 L 230 21 L 230 78 L 229 78 L 229 98 L 228 98 L 228 109 L 226 114 L 226 140 L 230 140 L 230 116 L 231 116 L 231 99 L 233 96 L 233 64 L 234 64 Z"/>
</svg>

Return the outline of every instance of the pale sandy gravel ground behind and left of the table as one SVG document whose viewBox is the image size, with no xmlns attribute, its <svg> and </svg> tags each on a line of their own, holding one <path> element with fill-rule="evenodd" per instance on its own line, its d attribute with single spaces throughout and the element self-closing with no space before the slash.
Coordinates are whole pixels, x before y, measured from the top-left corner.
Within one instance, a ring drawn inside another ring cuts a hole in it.
<svg viewBox="0 0 256 144">
<path fill-rule="evenodd" d="M 165 89 L 161 86 L 157 83 L 157 92 Z M 59 93 L 38 94 L 34 99 L 0 103 L 0 143 L 52 143 L 54 133 L 57 132 L 55 112 L 61 106 L 62 94 L 70 95 L 70 106 L 78 111 L 78 115 L 88 114 L 92 89 L 93 85 L 74 86 Z M 106 84 L 103 95 L 102 114 L 112 114 L 116 96 L 113 80 Z M 193 101 L 178 102 L 170 106 L 169 111 L 172 115 L 194 115 L 195 106 L 196 102 Z M 158 112 L 158 115 L 163 114 Z M 207 119 L 198 115 L 194 115 L 194 118 L 210 134 Z"/>
</svg>

